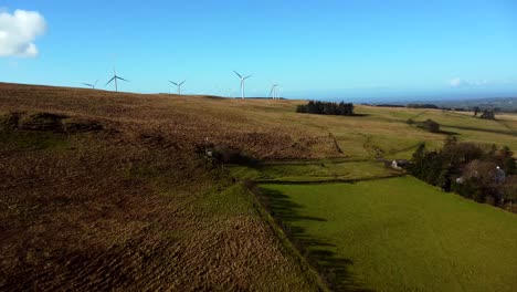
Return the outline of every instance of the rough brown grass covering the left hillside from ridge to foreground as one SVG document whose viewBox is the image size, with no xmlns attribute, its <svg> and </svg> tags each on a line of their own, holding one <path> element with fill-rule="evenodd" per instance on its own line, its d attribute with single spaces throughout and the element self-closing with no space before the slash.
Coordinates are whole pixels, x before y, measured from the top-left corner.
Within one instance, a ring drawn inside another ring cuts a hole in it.
<svg viewBox="0 0 517 292">
<path fill-rule="evenodd" d="M 231 195 L 244 212 L 210 207 L 230 184 L 196 156 L 207 137 L 261 158 L 327 147 L 327 134 L 241 114 L 257 104 L 0 84 L 0 115 L 103 126 L 48 133 L 44 147 L 33 147 L 41 133 L 4 132 L 14 138 L 0 142 L 0 290 L 318 290 L 244 189 Z"/>
</svg>

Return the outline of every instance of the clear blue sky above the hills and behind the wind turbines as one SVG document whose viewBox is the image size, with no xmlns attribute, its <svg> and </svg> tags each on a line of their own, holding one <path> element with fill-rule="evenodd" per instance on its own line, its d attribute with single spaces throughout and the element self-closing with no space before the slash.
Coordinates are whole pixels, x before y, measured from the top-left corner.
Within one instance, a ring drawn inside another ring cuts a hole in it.
<svg viewBox="0 0 517 292">
<path fill-rule="evenodd" d="M 517 1 L 2 1 L 35 11 L 38 54 L 0 56 L 0 81 L 81 86 L 116 65 L 128 92 L 355 102 L 517 96 Z M 0 31 L 2 30 L 0 22 Z M 1 42 L 0 32 L 0 53 Z M 32 51 L 31 51 L 32 52 Z M 29 55 L 29 56 L 28 56 Z"/>
</svg>

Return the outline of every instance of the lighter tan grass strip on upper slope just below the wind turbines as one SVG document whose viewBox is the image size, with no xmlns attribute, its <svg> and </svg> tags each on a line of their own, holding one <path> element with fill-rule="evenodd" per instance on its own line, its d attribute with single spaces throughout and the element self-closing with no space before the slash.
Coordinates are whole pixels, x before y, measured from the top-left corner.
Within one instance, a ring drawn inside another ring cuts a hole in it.
<svg viewBox="0 0 517 292">
<path fill-rule="evenodd" d="M 191 147 L 208 138 L 212 143 L 246 148 L 260 158 L 339 155 L 328 132 L 285 123 L 282 116 L 274 114 L 294 107 L 296 102 L 0 86 L 2 112 L 38 111 L 87 117 L 134 137 L 160 135 L 181 144 L 179 147 Z M 316 148 L 317 152 L 313 150 Z"/>
</svg>

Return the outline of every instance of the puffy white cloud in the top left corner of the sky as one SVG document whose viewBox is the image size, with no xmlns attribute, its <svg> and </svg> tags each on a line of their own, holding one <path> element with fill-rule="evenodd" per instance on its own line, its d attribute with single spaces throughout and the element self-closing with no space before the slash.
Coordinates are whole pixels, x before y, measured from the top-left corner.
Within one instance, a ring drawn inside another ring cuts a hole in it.
<svg viewBox="0 0 517 292">
<path fill-rule="evenodd" d="M 36 56 L 34 40 L 45 30 L 45 19 L 39 12 L 0 10 L 0 56 Z"/>
</svg>

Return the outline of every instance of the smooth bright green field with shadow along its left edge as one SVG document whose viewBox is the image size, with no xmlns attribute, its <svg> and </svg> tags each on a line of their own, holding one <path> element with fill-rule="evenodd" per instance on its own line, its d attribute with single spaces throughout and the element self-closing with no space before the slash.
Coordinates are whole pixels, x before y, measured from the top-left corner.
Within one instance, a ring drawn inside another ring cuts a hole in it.
<svg viewBox="0 0 517 292">
<path fill-rule="evenodd" d="M 517 216 L 412 177 L 262 185 L 338 290 L 515 291 Z"/>
</svg>

